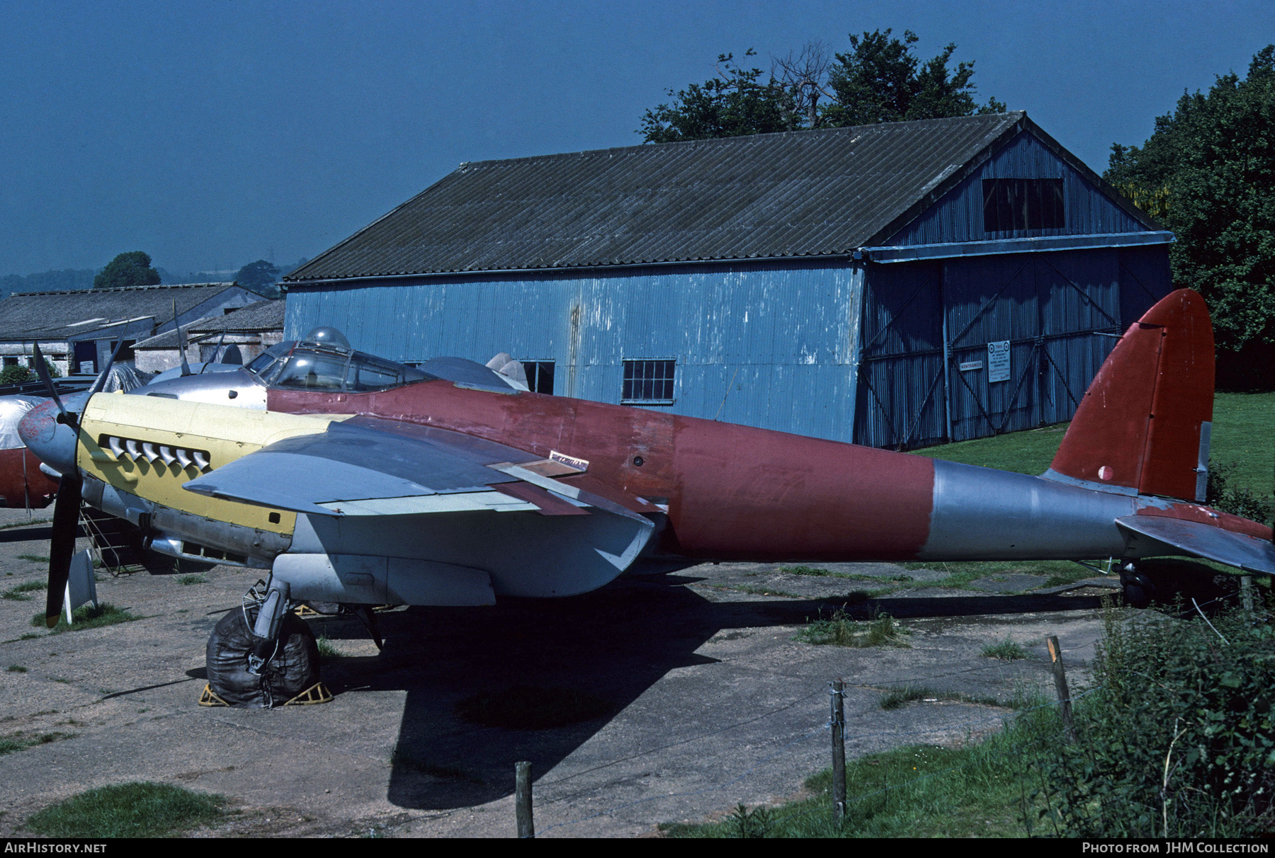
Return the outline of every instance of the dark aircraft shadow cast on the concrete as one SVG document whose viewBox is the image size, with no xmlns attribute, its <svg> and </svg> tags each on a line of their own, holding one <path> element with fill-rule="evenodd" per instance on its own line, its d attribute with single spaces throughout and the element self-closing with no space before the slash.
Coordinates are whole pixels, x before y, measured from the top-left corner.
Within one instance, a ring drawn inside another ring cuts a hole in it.
<svg viewBox="0 0 1275 858">
<path fill-rule="evenodd" d="M 338 659 L 325 665 L 324 681 L 335 694 L 407 691 L 391 803 L 414 810 L 481 804 L 513 792 L 515 762 L 532 761 L 539 776 L 668 671 L 714 663 L 696 650 L 719 631 L 802 623 L 840 607 L 835 599 L 709 602 L 683 586 L 694 580 L 653 575 L 569 599 L 381 613 L 381 654 Z M 881 599 L 845 609 L 863 617 L 877 611 L 926 617 L 1096 607 L 1096 598 L 1026 595 Z M 312 623 L 330 639 L 367 636 L 349 617 Z M 601 701 L 601 714 L 548 729 L 491 727 L 458 714 L 458 704 L 478 695 L 497 704 L 518 701 L 527 694 L 519 688 L 583 695 Z"/>
</svg>

